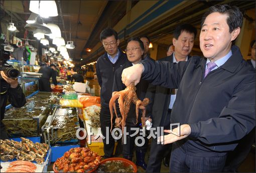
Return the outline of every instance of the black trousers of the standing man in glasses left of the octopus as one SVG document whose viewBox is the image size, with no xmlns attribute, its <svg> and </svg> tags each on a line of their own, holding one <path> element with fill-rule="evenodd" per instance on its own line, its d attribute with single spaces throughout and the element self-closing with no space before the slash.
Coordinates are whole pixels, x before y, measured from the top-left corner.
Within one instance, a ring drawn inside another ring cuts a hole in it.
<svg viewBox="0 0 256 173">
<path fill-rule="evenodd" d="M 111 121 L 110 121 L 110 111 L 108 107 L 103 107 L 101 106 L 101 110 L 100 110 L 100 128 L 101 128 L 101 133 L 104 137 L 106 137 L 105 139 L 103 139 L 103 144 L 104 144 L 104 157 L 108 158 L 108 157 L 112 157 L 113 156 L 113 151 L 114 151 L 114 143 L 115 140 L 111 135 L 110 132 L 110 128 L 111 128 Z M 115 116 L 113 118 L 113 128 L 114 128 L 114 120 L 115 120 Z M 107 129 L 108 127 L 108 129 Z M 108 137 L 107 134 L 108 133 Z M 108 141 L 108 144 L 107 144 Z"/>
</svg>

